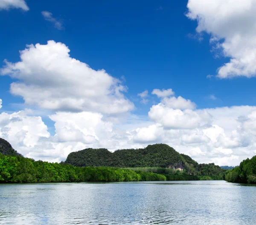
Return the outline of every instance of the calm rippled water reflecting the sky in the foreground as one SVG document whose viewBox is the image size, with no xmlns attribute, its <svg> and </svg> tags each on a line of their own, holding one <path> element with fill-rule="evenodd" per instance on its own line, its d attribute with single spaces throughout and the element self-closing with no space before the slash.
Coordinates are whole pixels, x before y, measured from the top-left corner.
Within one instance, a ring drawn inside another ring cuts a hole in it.
<svg viewBox="0 0 256 225">
<path fill-rule="evenodd" d="M 225 181 L 0 185 L 0 224 L 256 225 L 256 186 Z"/>
</svg>

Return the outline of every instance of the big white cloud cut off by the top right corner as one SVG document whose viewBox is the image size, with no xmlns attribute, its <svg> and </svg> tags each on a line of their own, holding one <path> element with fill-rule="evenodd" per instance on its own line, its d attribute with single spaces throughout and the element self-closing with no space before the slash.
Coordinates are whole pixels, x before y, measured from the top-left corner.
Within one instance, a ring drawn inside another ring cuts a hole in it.
<svg viewBox="0 0 256 225">
<path fill-rule="evenodd" d="M 256 0 L 189 0 L 187 17 L 198 21 L 197 32 L 212 35 L 211 43 L 230 62 L 217 76 L 256 76 Z"/>
</svg>

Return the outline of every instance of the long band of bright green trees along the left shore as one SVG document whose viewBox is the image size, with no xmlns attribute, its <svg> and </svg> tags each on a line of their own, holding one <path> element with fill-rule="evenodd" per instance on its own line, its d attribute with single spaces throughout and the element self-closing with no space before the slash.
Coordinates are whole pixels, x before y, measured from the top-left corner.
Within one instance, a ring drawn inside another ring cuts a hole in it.
<svg viewBox="0 0 256 225">
<path fill-rule="evenodd" d="M 75 167 L 0 153 L 0 182 L 116 182 L 166 180 L 155 173 L 113 167 Z"/>
</svg>

